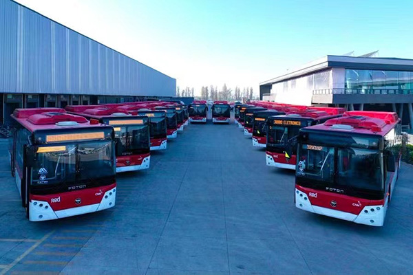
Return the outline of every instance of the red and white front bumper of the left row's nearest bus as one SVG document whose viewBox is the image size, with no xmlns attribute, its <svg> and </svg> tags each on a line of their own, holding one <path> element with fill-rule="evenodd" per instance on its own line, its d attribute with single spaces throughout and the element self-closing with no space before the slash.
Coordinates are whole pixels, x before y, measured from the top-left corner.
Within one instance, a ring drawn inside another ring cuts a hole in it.
<svg viewBox="0 0 413 275">
<path fill-rule="evenodd" d="M 105 210 L 115 204 L 116 184 L 52 195 L 32 195 L 28 206 L 29 220 L 61 219 Z"/>
</svg>

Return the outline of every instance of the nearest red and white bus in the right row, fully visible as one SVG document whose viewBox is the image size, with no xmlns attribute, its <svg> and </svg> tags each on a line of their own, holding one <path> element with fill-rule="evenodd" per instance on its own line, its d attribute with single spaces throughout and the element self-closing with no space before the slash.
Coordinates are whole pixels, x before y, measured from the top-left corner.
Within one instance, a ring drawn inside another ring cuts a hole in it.
<svg viewBox="0 0 413 275">
<path fill-rule="evenodd" d="M 295 206 L 366 225 L 383 225 L 399 175 L 396 113 L 348 111 L 301 129 Z"/>
</svg>

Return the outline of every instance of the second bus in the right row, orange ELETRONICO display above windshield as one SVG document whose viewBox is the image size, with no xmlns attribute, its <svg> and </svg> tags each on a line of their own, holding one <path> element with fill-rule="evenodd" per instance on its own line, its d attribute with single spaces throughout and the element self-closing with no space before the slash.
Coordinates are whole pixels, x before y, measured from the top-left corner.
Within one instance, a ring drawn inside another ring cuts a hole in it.
<svg viewBox="0 0 413 275">
<path fill-rule="evenodd" d="M 343 112 L 343 108 L 324 108 L 324 111 L 306 109 L 269 117 L 267 120 L 266 164 L 295 170 L 299 129 L 324 123 L 330 118 L 337 118 Z"/>
</svg>

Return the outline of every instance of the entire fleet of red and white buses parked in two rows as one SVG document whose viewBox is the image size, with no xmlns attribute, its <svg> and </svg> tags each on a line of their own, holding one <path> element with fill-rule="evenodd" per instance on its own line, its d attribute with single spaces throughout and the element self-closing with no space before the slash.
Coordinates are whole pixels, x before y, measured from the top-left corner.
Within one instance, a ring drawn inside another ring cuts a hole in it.
<svg viewBox="0 0 413 275">
<path fill-rule="evenodd" d="M 151 151 L 191 123 L 234 122 L 265 148 L 267 166 L 295 170 L 295 207 L 381 226 L 401 162 L 396 113 L 276 102 L 196 100 L 16 109 L 12 176 L 30 221 L 112 208 L 116 173 L 150 167 Z"/>
</svg>

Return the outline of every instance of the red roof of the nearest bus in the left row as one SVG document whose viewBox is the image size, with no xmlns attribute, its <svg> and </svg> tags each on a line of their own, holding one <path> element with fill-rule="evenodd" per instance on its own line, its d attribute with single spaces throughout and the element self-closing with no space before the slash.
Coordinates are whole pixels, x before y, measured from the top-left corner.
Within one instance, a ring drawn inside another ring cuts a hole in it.
<svg viewBox="0 0 413 275">
<path fill-rule="evenodd" d="M 83 116 L 66 113 L 65 109 L 60 108 L 15 109 L 12 118 L 30 132 L 104 126 L 90 124 Z"/>
</svg>

